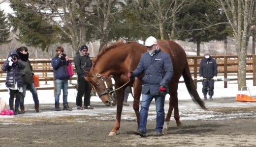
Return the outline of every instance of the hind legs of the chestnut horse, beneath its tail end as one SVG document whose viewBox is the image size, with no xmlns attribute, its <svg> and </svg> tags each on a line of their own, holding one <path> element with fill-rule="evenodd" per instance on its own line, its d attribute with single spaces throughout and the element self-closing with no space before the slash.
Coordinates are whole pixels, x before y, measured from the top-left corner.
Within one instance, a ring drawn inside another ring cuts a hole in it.
<svg viewBox="0 0 256 147">
<path fill-rule="evenodd" d="M 178 83 L 172 83 L 169 85 L 169 94 L 170 94 L 170 101 L 169 101 L 169 109 L 164 121 L 163 129 L 167 130 L 168 124 L 170 122 L 172 110 L 174 109 L 174 119 L 178 127 L 182 125 L 180 122 L 180 115 L 179 115 L 179 107 L 178 107 Z"/>
</svg>

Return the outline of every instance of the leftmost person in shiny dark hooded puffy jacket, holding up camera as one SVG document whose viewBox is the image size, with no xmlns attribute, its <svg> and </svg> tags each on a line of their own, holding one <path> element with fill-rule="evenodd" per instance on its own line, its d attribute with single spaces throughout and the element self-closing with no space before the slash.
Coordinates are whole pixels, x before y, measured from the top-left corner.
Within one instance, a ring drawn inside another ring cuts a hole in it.
<svg viewBox="0 0 256 147">
<path fill-rule="evenodd" d="M 14 114 L 23 114 L 19 110 L 20 97 L 22 95 L 23 89 L 23 79 L 21 70 L 25 68 L 25 64 L 20 61 L 20 57 L 16 52 L 16 49 L 13 49 L 9 52 L 8 58 L 4 61 L 2 65 L 2 71 L 6 72 L 6 82 L 5 86 L 10 94 L 9 98 L 9 107 L 10 110 L 14 110 Z M 15 108 L 13 107 L 15 99 Z"/>
</svg>

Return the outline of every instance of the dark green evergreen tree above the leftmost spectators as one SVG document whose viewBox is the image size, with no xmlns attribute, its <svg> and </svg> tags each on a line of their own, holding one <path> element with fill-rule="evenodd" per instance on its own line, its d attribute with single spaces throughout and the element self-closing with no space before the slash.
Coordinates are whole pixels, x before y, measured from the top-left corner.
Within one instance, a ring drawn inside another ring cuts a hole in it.
<svg viewBox="0 0 256 147">
<path fill-rule="evenodd" d="M 11 7 L 15 15 L 9 15 L 9 20 L 19 41 L 42 50 L 48 50 L 50 45 L 60 41 L 60 29 L 35 14 L 30 7 L 16 0 L 11 0 Z"/>
</svg>

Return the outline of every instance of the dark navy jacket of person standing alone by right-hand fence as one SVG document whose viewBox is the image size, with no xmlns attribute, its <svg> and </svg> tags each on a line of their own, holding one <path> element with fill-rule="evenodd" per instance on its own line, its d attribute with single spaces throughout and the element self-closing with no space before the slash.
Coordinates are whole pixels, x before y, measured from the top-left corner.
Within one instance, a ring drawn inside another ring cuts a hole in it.
<svg viewBox="0 0 256 147">
<path fill-rule="evenodd" d="M 211 57 L 209 59 L 204 58 L 200 62 L 199 76 L 202 76 L 203 78 L 213 78 L 218 74 L 217 68 L 215 59 Z"/>
</svg>

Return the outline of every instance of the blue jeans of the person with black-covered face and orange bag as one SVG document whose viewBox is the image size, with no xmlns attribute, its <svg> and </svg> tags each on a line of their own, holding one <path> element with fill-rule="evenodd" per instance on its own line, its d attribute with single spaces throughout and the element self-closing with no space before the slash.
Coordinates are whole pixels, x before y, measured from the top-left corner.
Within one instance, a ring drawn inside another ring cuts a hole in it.
<svg viewBox="0 0 256 147">
<path fill-rule="evenodd" d="M 35 105 L 39 104 L 39 100 L 38 100 L 38 96 L 37 96 L 37 91 L 36 91 L 36 88 L 34 87 L 34 83 L 24 84 L 22 86 L 22 88 L 23 88 L 23 93 L 22 93 L 21 99 L 20 99 L 20 106 L 24 106 L 24 98 L 26 96 L 26 90 L 29 90 L 32 93 L 34 104 Z"/>
</svg>

